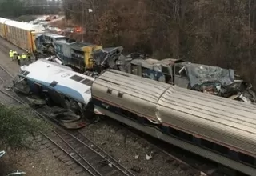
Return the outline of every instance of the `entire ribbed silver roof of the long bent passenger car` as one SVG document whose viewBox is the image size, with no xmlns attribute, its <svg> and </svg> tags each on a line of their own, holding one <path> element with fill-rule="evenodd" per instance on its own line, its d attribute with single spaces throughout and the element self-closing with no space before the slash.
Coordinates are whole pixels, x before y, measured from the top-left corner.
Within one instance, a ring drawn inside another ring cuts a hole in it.
<svg viewBox="0 0 256 176">
<path fill-rule="evenodd" d="M 140 107 L 127 105 L 127 110 L 133 110 L 139 116 L 157 118 L 167 126 L 175 126 L 189 134 L 207 140 L 210 138 L 211 141 L 256 156 L 256 106 L 254 105 L 156 82 L 118 70 L 106 70 L 96 78 L 92 88 L 93 96 L 100 95 L 97 91 L 94 93 L 97 87 L 122 92 L 122 99 L 139 98 L 144 102 L 143 106 L 155 105 L 158 114 L 155 114 L 154 110 L 151 114 L 146 114 L 150 110 L 144 112 Z"/>
</svg>

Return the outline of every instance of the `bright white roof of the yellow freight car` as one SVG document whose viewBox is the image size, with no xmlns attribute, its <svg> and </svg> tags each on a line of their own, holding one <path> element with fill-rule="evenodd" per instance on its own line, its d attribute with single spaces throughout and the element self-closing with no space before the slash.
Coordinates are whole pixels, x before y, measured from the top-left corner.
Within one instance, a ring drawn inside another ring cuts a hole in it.
<svg viewBox="0 0 256 176">
<path fill-rule="evenodd" d="M 14 20 L 7 20 L 5 22 L 5 24 L 7 26 L 14 26 L 14 27 L 17 27 L 22 30 L 28 30 L 28 31 L 34 31 L 34 32 L 42 32 L 43 30 L 45 30 L 44 27 L 39 26 L 39 25 L 33 25 L 30 23 L 18 22 L 18 21 L 14 21 Z"/>
</svg>

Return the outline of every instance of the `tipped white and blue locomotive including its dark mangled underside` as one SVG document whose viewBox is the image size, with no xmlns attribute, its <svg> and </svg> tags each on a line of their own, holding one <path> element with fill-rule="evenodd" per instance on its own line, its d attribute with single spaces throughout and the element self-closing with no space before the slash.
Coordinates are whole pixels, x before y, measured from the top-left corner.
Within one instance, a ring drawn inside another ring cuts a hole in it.
<svg viewBox="0 0 256 176">
<path fill-rule="evenodd" d="M 47 115 L 71 129 L 94 120 L 94 106 L 90 103 L 93 82 L 94 78 L 78 74 L 70 67 L 40 59 L 21 66 L 20 74 L 14 78 L 14 90 L 26 94 L 34 106 L 61 108 Z"/>
</svg>

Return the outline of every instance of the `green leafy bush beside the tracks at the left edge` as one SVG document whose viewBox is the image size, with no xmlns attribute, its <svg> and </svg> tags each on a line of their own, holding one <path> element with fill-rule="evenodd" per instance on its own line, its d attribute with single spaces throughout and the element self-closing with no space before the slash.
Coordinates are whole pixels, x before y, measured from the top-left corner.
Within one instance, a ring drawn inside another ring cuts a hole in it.
<svg viewBox="0 0 256 176">
<path fill-rule="evenodd" d="M 8 146 L 27 146 L 27 138 L 49 129 L 26 106 L 0 106 L 0 140 Z"/>
</svg>

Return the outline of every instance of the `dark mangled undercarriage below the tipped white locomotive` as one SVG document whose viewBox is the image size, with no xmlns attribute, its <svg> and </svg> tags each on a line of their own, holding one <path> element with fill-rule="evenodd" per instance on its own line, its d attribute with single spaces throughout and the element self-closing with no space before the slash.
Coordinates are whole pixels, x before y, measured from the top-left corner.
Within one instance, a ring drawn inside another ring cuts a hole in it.
<svg viewBox="0 0 256 176">
<path fill-rule="evenodd" d="M 38 82 L 27 80 L 26 71 L 14 78 L 12 88 L 23 102 L 39 111 L 43 109 L 47 118 L 67 129 L 82 128 L 96 119 L 90 103 L 82 104 Z"/>
</svg>

